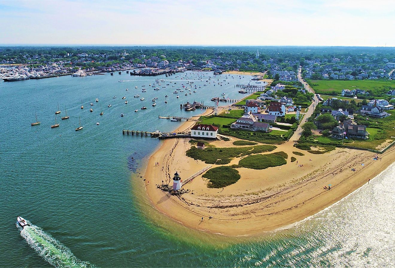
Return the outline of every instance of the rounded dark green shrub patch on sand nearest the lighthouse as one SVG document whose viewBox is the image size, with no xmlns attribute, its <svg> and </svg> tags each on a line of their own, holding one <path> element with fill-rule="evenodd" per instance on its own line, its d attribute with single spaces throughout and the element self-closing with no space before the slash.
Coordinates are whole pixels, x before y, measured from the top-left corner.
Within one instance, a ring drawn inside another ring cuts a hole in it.
<svg viewBox="0 0 395 268">
<path fill-rule="evenodd" d="M 214 167 L 209 169 L 202 175 L 203 178 L 209 179 L 207 187 L 209 188 L 222 188 L 240 179 L 239 171 L 229 166 Z"/>
</svg>

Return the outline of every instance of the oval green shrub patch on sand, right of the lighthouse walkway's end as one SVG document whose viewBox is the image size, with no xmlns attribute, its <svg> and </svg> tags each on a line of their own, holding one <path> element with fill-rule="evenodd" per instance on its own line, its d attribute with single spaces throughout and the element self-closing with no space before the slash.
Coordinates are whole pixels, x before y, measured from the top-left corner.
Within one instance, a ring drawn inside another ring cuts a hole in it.
<svg viewBox="0 0 395 268">
<path fill-rule="evenodd" d="M 280 154 L 273 153 L 247 156 L 246 158 L 243 158 L 239 161 L 239 165 L 252 169 L 265 169 L 268 167 L 282 166 L 287 164 L 287 161 L 284 159 L 281 153 L 284 152 L 280 152 Z"/>
</svg>

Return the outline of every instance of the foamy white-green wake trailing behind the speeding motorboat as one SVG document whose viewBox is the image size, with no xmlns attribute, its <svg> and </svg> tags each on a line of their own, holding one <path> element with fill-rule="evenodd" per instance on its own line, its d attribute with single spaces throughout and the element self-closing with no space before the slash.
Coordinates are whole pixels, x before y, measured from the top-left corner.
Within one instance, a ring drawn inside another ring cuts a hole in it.
<svg viewBox="0 0 395 268">
<path fill-rule="evenodd" d="M 26 240 L 31 248 L 45 261 L 57 268 L 93 268 L 94 265 L 84 262 L 71 253 L 70 249 L 53 238 L 50 234 L 45 233 L 40 227 L 31 224 L 30 226 L 18 226 L 21 236 Z"/>
</svg>

